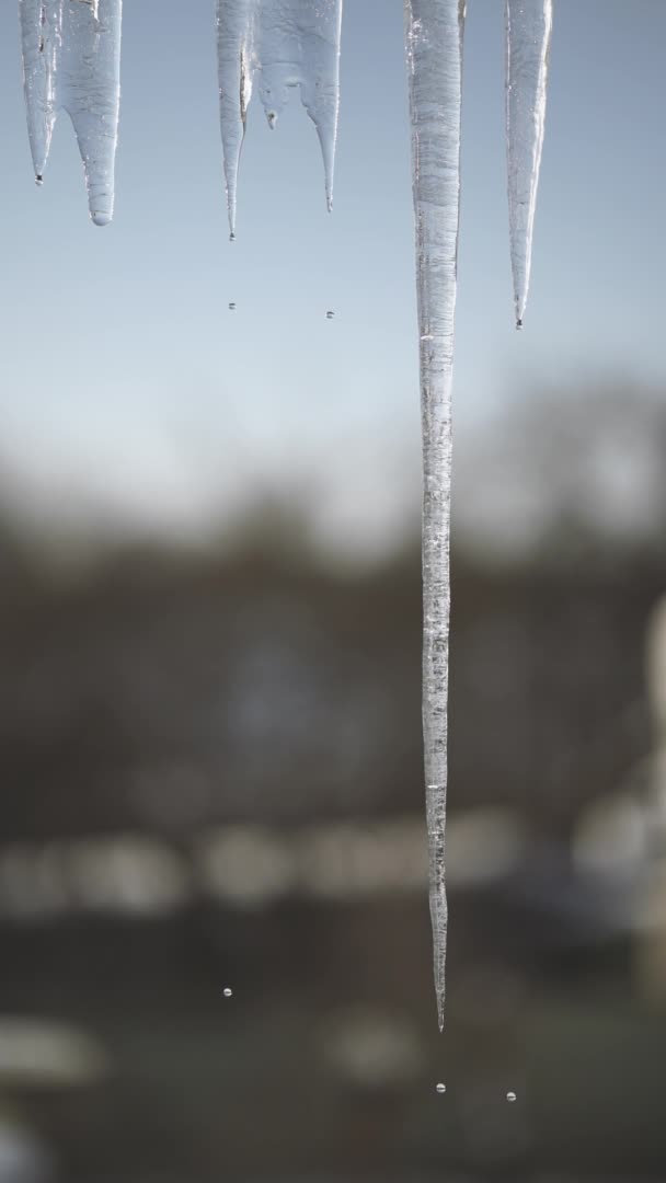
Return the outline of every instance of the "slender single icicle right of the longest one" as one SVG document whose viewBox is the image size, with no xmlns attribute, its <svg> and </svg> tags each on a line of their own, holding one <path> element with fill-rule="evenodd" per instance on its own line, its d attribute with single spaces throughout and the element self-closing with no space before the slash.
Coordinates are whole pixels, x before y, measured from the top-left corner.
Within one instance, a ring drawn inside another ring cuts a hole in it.
<svg viewBox="0 0 666 1183">
<path fill-rule="evenodd" d="M 506 0 L 506 154 L 516 327 L 523 325 L 543 148 L 552 0 Z"/>
</svg>

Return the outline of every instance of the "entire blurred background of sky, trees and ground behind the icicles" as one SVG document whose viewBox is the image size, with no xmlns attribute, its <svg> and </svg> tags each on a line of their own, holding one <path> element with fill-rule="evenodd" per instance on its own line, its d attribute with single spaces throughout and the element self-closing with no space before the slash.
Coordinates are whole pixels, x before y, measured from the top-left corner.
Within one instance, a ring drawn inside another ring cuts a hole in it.
<svg viewBox="0 0 666 1183">
<path fill-rule="evenodd" d="M 558 0 L 517 335 L 468 6 L 439 1036 L 402 6 L 233 246 L 212 7 L 125 5 L 103 232 L 0 12 L 0 1183 L 665 1178 L 666 11 Z"/>
</svg>

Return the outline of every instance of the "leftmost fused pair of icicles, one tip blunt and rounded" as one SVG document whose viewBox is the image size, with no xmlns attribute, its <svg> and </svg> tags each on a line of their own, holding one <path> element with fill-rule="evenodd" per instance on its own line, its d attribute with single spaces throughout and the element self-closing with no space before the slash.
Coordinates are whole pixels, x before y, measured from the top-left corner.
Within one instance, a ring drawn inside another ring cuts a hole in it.
<svg viewBox="0 0 666 1183">
<path fill-rule="evenodd" d="M 19 0 L 34 175 L 44 177 L 58 111 L 67 111 L 85 169 L 90 216 L 114 215 L 121 101 L 122 0 Z"/>
</svg>

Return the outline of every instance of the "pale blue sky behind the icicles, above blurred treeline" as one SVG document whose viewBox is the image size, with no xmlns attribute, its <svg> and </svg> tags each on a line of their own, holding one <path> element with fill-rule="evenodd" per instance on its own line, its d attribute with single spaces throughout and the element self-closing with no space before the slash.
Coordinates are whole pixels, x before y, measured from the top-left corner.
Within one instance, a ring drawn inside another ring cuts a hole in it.
<svg viewBox="0 0 666 1183">
<path fill-rule="evenodd" d="M 503 0 L 470 0 L 455 421 L 525 384 L 666 387 L 666 5 L 556 0 L 525 329 L 512 328 Z M 295 99 L 253 104 L 231 245 L 213 0 L 125 0 L 116 219 L 88 220 L 58 123 L 32 181 L 18 19 L 0 11 L 0 490 L 45 523 L 194 535 L 260 489 L 334 542 L 418 500 L 413 219 L 401 0 L 347 0 L 335 208 Z M 228 302 L 237 311 L 228 311 Z M 326 321 L 325 310 L 336 311 Z"/>
</svg>

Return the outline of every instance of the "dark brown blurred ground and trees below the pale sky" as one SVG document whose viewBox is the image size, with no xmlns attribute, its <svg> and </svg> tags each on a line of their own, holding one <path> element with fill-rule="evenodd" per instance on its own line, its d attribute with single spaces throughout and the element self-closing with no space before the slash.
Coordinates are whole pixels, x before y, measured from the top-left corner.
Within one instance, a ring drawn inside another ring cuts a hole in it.
<svg viewBox="0 0 666 1183">
<path fill-rule="evenodd" d="M 0 1181 L 666 1177 L 661 521 L 459 535 L 444 1037 L 418 541 L 258 521 L 0 539 Z"/>
</svg>

